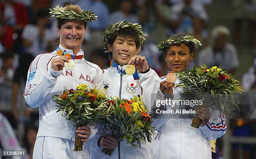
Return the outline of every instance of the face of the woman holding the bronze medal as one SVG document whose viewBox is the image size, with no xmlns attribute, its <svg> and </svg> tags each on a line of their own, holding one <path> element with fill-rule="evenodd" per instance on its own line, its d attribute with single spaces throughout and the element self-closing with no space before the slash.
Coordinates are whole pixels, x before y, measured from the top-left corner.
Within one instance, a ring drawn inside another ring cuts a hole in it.
<svg viewBox="0 0 256 159">
<path fill-rule="evenodd" d="M 193 58 L 194 51 L 190 53 L 189 47 L 184 43 L 181 43 L 181 45 L 170 45 L 166 49 L 165 61 L 171 71 L 185 71 L 189 68 L 189 63 Z"/>
</svg>

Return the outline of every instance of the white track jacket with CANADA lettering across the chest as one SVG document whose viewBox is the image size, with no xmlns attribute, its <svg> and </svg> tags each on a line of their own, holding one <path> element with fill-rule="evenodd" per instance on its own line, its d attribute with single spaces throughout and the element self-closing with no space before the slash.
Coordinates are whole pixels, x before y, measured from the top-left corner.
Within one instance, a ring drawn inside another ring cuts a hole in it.
<svg viewBox="0 0 256 159">
<path fill-rule="evenodd" d="M 59 47 L 64 51 L 61 45 Z M 72 53 L 72 50 L 66 49 L 66 51 Z M 83 54 L 82 50 L 77 53 L 77 55 Z M 83 83 L 87 84 L 89 88 L 97 86 L 97 88 L 103 89 L 102 71 L 99 66 L 86 61 L 84 58 L 74 60 L 75 67 L 73 70 L 67 70 L 64 67 L 62 71 L 53 71 L 51 60 L 56 56 L 58 56 L 56 51 L 36 56 L 28 70 L 24 97 L 28 106 L 39 107 L 37 137 L 50 136 L 74 140 L 75 124 L 73 121 L 62 117 L 61 112 L 56 113 L 58 107 L 53 102 L 53 95 L 59 95 L 64 91 L 64 88 L 69 90 Z M 90 127 L 89 139 L 97 132 L 96 129 L 92 129 L 94 127 Z"/>
</svg>

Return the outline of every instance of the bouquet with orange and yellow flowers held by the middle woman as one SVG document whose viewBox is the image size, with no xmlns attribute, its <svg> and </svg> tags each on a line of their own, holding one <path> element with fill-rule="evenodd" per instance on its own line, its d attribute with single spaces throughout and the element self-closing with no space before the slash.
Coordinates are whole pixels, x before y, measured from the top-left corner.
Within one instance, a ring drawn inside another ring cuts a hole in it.
<svg viewBox="0 0 256 159">
<path fill-rule="evenodd" d="M 141 147 L 141 140 L 151 142 L 152 130 L 151 117 L 144 106 L 141 97 L 134 96 L 130 100 L 112 98 L 113 113 L 103 121 L 104 128 L 112 132 L 112 136 L 118 141 L 127 140 L 134 148 Z M 102 149 L 102 152 L 111 156 L 113 149 Z M 120 151 L 118 151 L 120 156 Z"/>
</svg>

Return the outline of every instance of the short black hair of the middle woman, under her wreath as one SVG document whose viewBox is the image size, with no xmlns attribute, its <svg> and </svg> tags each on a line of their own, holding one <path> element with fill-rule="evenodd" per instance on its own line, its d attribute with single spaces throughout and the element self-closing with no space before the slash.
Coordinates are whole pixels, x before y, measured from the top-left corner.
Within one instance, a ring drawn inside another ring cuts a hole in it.
<svg viewBox="0 0 256 159">
<path fill-rule="evenodd" d="M 110 43 L 110 45 L 112 46 L 118 36 L 133 38 L 136 44 L 136 48 L 139 48 L 141 46 L 141 38 L 139 34 L 131 28 L 126 27 L 116 30 L 108 39 L 108 43 Z"/>
</svg>

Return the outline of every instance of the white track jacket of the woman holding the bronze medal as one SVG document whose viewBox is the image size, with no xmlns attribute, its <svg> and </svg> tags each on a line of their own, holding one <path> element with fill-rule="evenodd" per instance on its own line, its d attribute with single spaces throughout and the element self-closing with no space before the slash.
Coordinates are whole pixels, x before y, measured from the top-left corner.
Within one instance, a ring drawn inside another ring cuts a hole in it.
<svg viewBox="0 0 256 159">
<path fill-rule="evenodd" d="M 166 77 L 161 78 L 162 81 Z M 179 79 L 175 83 L 179 83 Z M 173 88 L 174 98 L 181 89 Z M 179 106 L 178 106 L 179 107 Z M 159 121 L 164 121 L 163 123 Z M 215 140 L 225 134 L 225 116 L 210 108 L 210 119 L 205 126 L 196 129 L 191 126 L 192 119 L 184 119 L 180 114 L 171 114 L 169 120 L 159 119 L 156 129 L 157 141 L 153 143 L 154 158 L 157 159 L 211 159 L 209 140 Z"/>
</svg>

